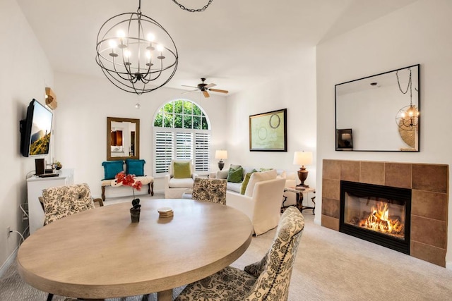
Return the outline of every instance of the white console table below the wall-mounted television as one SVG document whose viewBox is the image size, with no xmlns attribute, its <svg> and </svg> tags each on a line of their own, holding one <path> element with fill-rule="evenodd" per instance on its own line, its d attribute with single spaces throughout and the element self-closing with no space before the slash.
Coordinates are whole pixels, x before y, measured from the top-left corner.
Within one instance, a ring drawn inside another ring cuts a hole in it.
<svg viewBox="0 0 452 301">
<path fill-rule="evenodd" d="M 27 179 L 30 235 L 44 225 L 44 211 L 38 199 L 38 197 L 42 196 L 42 190 L 73 184 L 73 169 L 61 169 L 57 173 L 59 173 L 57 177 L 40 178 L 38 176 L 32 176 Z"/>
</svg>

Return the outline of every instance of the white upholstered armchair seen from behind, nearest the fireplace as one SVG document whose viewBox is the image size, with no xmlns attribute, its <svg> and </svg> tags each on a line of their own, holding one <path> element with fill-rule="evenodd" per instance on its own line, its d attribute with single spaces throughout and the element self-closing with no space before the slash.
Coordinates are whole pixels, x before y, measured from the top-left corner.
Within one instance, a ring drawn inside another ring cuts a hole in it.
<svg viewBox="0 0 452 301">
<path fill-rule="evenodd" d="M 226 204 L 246 214 L 254 233 L 260 235 L 278 226 L 284 185 L 285 178 L 263 180 L 254 185 L 251 197 L 228 190 Z"/>
</svg>

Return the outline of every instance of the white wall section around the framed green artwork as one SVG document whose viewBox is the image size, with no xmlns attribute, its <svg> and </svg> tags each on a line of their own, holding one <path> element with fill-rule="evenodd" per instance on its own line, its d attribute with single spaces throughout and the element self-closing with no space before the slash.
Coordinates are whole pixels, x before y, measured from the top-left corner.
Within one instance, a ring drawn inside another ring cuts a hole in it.
<svg viewBox="0 0 452 301">
<path fill-rule="evenodd" d="M 278 80 L 248 87 L 227 97 L 227 151 L 230 164 L 280 168 L 296 172 L 295 151 L 314 152 L 314 164 L 307 166 L 308 185 L 315 185 L 316 166 L 316 54 L 315 49 L 294 59 L 296 73 Z M 269 67 L 269 70 L 271 68 Z M 287 152 L 250 152 L 249 116 L 287 108 Z"/>
</svg>

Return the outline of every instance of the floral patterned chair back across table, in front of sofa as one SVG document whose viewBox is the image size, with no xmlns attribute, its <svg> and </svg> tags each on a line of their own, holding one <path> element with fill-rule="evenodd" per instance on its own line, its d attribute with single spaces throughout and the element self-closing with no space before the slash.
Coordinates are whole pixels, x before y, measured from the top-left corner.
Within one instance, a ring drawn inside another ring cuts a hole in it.
<svg viewBox="0 0 452 301">
<path fill-rule="evenodd" d="M 191 199 L 226 204 L 227 180 L 195 178 Z"/>
</svg>

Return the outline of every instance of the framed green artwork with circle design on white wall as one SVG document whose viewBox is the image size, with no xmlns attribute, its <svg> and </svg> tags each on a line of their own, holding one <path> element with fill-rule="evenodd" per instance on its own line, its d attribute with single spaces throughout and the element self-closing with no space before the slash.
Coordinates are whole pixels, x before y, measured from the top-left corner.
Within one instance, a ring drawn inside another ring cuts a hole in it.
<svg viewBox="0 0 452 301">
<path fill-rule="evenodd" d="M 251 152 L 287 152 L 287 109 L 249 116 Z"/>
</svg>

